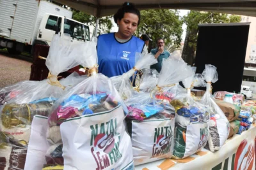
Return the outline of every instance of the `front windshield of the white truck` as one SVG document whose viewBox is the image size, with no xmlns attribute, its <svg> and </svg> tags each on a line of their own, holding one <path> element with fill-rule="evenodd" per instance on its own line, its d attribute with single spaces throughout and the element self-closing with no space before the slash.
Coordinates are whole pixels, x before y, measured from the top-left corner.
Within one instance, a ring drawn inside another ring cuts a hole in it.
<svg viewBox="0 0 256 170">
<path fill-rule="evenodd" d="M 72 38 L 90 41 L 89 27 L 72 20 L 64 19 L 64 33 Z"/>
</svg>

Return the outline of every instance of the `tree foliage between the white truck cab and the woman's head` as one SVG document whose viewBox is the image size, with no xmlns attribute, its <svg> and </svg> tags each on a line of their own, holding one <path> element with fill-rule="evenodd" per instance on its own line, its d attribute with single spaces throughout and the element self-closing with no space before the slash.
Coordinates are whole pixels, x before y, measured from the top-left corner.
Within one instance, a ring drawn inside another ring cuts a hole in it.
<svg viewBox="0 0 256 170">
<path fill-rule="evenodd" d="M 108 17 L 102 17 L 99 19 L 99 29 L 102 30 L 104 33 L 109 33 L 111 31 L 111 28 L 113 26 L 111 22 L 111 18 L 112 16 L 108 16 Z M 97 18 L 92 15 L 83 13 L 81 11 L 73 10 L 73 19 L 96 27 Z"/>
</svg>

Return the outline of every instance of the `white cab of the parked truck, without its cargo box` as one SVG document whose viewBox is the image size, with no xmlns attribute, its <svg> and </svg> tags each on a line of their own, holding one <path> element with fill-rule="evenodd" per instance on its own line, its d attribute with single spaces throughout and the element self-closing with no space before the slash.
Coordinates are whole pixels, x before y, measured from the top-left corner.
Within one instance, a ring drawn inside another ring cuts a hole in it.
<svg viewBox="0 0 256 170">
<path fill-rule="evenodd" d="M 35 44 L 50 46 L 52 37 L 58 33 L 61 35 L 70 34 L 72 43 L 90 41 L 88 25 L 70 18 L 46 13 L 40 23 Z"/>
</svg>

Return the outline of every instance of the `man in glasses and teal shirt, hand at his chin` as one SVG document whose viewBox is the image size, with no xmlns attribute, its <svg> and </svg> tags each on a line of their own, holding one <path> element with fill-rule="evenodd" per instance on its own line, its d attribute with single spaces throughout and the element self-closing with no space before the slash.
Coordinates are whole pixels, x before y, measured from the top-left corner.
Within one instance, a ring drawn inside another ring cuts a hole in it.
<svg viewBox="0 0 256 170">
<path fill-rule="evenodd" d="M 157 48 L 154 48 L 151 50 L 151 53 L 155 56 L 157 59 L 157 63 L 150 66 L 151 69 L 156 69 L 158 73 L 160 73 L 162 69 L 162 62 L 163 59 L 167 59 L 170 57 L 170 53 L 166 50 L 164 50 L 164 39 L 158 38 L 156 40 Z"/>
</svg>

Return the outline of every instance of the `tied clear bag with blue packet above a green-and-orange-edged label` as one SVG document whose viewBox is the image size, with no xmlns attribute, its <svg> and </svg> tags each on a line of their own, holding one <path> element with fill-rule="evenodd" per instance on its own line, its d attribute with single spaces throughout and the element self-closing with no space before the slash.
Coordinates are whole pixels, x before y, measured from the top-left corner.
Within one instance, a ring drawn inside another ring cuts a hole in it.
<svg viewBox="0 0 256 170">
<path fill-rule="evenodd" d="M 196 67 L 191 67 L 188 78 L 182 80 L 184 88 L 170 102 L 175 108 L 174 159 L 184 159 L 204 148 L 209 138 L 209 115 L 205 106 L 198 103 L 191 94 L 193 87 L 204 83 Z"/>
</svg>

